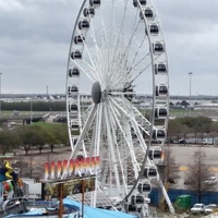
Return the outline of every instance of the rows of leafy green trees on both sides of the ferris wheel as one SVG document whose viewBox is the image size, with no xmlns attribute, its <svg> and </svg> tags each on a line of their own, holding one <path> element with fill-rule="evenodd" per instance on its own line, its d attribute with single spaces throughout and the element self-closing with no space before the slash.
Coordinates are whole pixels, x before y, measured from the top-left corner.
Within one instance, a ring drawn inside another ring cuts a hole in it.
<svg viewBox="0 0 218 218">
<path fill-rule="evenodd" d="M 49 125 L 51 125 L 49 128 Z M 46 128 L 45 128 L 46 126 Z M 183 117 L 169 120 L 167 137 L 186 138 L 194 136 L 202 140 L 205 136 L 215 138 L 218 135 L 218 122 L 207 117 Z M 49 145 L 69 144 L 66 123 L 44 123 L 44 125 L 17 125 L 13 130 L 8 130 L 2 125 L 0 134 L 0 149 L 2 154 L 23 147 L 26 154 L 31 147 L 37 147 L 39 152 Z M 52 150 L 51 150 L 52 152 Z"/>
</svg>

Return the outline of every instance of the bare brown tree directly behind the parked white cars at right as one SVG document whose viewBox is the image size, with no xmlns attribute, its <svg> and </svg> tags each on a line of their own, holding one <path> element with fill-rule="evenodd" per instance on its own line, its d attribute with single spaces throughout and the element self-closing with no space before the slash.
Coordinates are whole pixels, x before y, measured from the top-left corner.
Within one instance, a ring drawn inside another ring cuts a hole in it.
<svg viewBox="0 0 218 218">
<path fill-rule="evenodd" d="M 199 203 L 205 192 L 215 190 L 215 183 L 206 182 L 209 177 L 211 172 L 206 164 L 206 153 L 199 149 L 194 153 L 193 162 L 189 165 L 189 171 L 185 174 L 187 185 L 197 193 Z"/>
</svg>

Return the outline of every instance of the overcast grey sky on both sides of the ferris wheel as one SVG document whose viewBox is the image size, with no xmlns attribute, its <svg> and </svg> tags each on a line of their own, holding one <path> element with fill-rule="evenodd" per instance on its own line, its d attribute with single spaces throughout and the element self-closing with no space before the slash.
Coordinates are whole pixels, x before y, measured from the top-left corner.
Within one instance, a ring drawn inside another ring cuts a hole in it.
<svg viewBox="0 0 218 218">
<path fill-rule="evenodd" d="M 171 95 L 218 94 L 218 0 L 154 0 Z M 70 39 L 82 0 L 0 0 L 1 92 L 63 94 Z"/>
</svg>

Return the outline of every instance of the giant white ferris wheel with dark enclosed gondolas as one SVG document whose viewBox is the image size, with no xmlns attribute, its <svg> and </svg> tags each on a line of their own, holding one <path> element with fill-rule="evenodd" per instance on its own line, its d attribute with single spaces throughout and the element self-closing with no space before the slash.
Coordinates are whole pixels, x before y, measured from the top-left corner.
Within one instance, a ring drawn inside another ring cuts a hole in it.
<svg viewBox="0 0 218 218">
<path fill-rule="evenodd" d="M 98 189 L 141 205 L 153 181 L 161 183 L 156 164 L 168 110 L 166 45 L 153 1 L 84 0 L 68 60 L 70 158 L 100 156 Z"/>
</svg>

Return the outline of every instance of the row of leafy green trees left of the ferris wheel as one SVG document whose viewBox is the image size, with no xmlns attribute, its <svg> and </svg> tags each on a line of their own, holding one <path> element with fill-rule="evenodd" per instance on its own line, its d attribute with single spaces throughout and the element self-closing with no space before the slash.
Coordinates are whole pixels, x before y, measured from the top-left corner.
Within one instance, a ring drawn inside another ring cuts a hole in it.
<svg viewBox="0 0 218 218">
<path fill-rule="evenodd" d="M 0 134 L 0 153 L 16 153 L 21 148 L 27 155 L 31 149 L 43 152 L 49 146 L 51 153 L 56 145 L 69 145 L 65 123 L 34 123 L 32 125 L 17 125 L 13 130 L 2 126 Z"/>
</svg>

